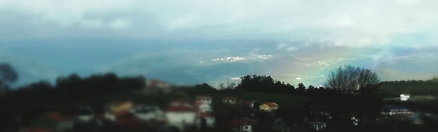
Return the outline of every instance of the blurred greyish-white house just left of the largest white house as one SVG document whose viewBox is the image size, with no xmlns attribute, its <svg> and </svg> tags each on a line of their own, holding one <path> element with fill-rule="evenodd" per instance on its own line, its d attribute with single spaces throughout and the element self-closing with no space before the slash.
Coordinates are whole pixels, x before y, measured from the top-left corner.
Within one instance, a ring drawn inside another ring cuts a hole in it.
<svg viewBox="0 0 438 132">
<path fill-rule="evenodd" d="M 134 114 L 135 117 L 138 117 L 146 121 L 164 120 L 164 112 L 160 109 L 160 107 L 156 105 L 152 105 L 152 106 L 138 105 L 137 107 L 134 108 L 132 113 Z"/>
</svg>

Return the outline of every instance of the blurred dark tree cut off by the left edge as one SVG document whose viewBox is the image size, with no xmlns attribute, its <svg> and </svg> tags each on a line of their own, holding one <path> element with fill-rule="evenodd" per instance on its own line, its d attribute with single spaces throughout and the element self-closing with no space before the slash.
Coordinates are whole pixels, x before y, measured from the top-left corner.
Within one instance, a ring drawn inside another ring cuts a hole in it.
<svg viewBox="0 0 438 132">
<path fill-rule="evenodd" d="M 9 85 L 18 79 L 18 74 L 7 63 L 0 63 L 0 92 L 4 93 Z"/>
</svg>

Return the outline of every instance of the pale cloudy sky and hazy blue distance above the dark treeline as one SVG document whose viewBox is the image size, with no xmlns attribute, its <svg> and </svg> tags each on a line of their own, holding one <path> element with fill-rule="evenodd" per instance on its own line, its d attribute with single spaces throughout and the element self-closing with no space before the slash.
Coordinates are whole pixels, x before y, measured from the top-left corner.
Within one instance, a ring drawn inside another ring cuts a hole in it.
<svg viewBox="0 0 438 132">
<path fill-rule="evenodd" d="M 436 0 L 0 0 L 16 86 L 77 73 L 176 85 L 272 75 L 319 86 L 338 66 L 438 76 Z"/>
</svg>

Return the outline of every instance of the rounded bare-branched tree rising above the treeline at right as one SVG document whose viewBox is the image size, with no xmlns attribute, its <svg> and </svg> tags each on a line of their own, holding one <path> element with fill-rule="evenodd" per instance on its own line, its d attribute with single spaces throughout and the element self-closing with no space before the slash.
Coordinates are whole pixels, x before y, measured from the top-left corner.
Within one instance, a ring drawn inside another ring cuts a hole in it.
<svg viewBox="0 0 438 132">
<path fill-rule="evenodd" d="M 351 93 L 378 82 L 379 79 L 373 71 L 346 65 L 329 74 L 326 86 Z"/>
</svg>

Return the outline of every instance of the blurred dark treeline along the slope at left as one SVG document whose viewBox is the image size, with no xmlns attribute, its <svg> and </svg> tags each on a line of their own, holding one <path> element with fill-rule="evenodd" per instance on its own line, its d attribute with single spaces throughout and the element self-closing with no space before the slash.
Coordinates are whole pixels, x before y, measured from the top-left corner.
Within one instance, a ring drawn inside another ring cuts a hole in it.
<svg viewBox="0 0 438 132">
<path fill-rule="evenodd" d="M 13 128 L 14 125 L 28 125 L 29 120 L 51 111 L 52 107 L 74 107 L 74 101 L 141 89 L 144 86 L 145 79 L 141 76 L 118 77 L 116 74 L 107 73 L 81 78 L 72 74 L 58 78 L 55 85 L 43 81 L 8 90 L 0 95 L 0 103 L 5 106 L 0 109 L 0 130 Z"/>
</svg>

